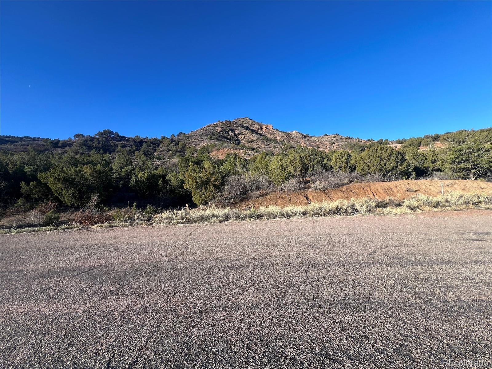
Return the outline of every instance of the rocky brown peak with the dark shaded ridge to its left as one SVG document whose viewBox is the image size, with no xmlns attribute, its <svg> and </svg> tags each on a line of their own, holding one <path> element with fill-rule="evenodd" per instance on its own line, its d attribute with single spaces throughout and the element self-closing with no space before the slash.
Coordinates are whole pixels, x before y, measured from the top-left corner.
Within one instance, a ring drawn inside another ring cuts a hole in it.
<svg viewBox="0 0 492 369">
<path fill-rule="evenodd" d="M 74 138 L 66 140 L 49 139 L 30 136 L 1 136 L 1 148 L 7 152 L 26 152 L 31 147 L 37 152 L 63 153 L 71 148 L 91 151 L 93 149 L 113 153 L 118 147 L 141 150 L 142 147 L 152 149 L 158 156 L 168 157 L 172 147 L 177 151 L 183 151 L 186 146 L 201 147 L 207 144 L 215 146 L 215 150 L 222 150 L 215 154 L 217 158 L 223 158 L 229 152 L 237 152 L 241 156 L 250 157 L 254 154 L 271 151 L 278 153 L 282 149 L 296 147 L 297 145 L 316 148 L 322 151 L 338 150 L 345 146 L 364 144 L 369 141 L 360 140 L 339 134 L 326 134 L 323 136 L 310 136 L 298 131 L 283 132 L 274 128 L 271 124 L 255 122 L 249 118 L 238 118 L 233 121 L 218 121 L 205 125 L 189 133 L 180 132 L 177 136 L 171 135 L 170 143 L 161 145 L 164 137 L 125 137 L 105 129 L 93 136 L 75 134 Z M 180 149 L 177 149 L 183 143 Z M 176 151 L 175 150 L 175 151 Z M 213 154 L 214 156 L 214 154 Z"/>
</svg>

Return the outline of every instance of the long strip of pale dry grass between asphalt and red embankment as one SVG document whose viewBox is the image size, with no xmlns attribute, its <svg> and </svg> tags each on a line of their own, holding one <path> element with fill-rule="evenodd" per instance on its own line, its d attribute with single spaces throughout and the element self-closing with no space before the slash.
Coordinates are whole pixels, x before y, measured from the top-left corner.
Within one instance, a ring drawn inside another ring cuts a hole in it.
<svg viewBox="0 0 492 369">
<path fill-rule="evenodd" d="M 451 193 L 439 197 L 418 194 L 403 201 L 387 198 L 351 199 L 311 203 L 306 206 L 268 206 L 238 210 L 214 205 L 184 208 L 154 215 L 154 224 L 223 222 L 228 220 L 299 218 L 331 215 L 405 214 L 418 211 L 492 208 L 492 196 L 479 193 Z"/>
</svg>

